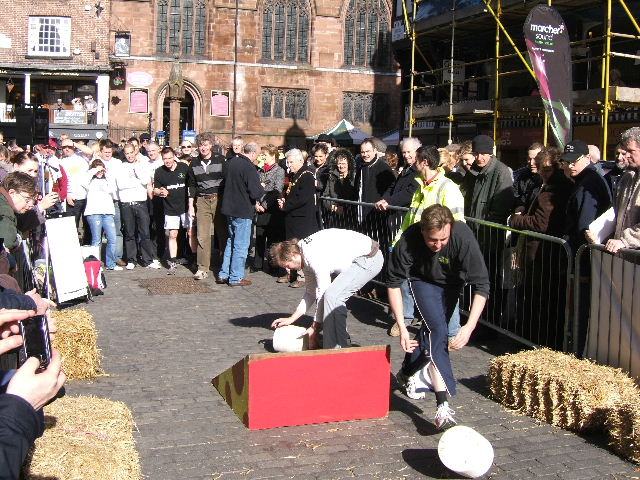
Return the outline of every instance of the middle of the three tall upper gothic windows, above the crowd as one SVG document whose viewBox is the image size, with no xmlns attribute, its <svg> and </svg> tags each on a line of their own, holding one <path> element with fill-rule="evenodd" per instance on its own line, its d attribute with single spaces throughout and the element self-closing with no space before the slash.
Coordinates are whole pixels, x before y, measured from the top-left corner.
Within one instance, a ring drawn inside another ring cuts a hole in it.
<svg viewBox="0 0 640 480">
<path fill-rule="evenodd" d="M 305 0 L 266 0 L 262 12 L 262 58 L 307 63 L 309 7 Z"/>
</svg>

